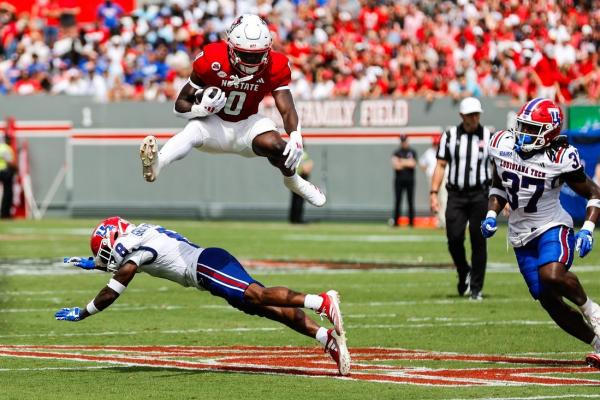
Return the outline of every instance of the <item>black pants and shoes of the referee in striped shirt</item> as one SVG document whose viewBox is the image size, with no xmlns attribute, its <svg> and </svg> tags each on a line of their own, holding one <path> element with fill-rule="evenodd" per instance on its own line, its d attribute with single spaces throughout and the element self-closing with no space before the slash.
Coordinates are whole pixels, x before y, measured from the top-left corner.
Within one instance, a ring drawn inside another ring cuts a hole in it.
<svg viewBox="0 0 600 400">
<path fill-rule="evenodd" d="M 448 250 L 458 271 L 459 279 L 471 273 L 471 292 L 483 289 L 487 264 L 486 241 L 481 234 L 481 221 L 487 214 L 487 191 L 448 191 L 446 207 L 446 236 Z M 465 252 L 465 231 L 469 223 L 471 237 L 471 266 Z"/>
</svg>

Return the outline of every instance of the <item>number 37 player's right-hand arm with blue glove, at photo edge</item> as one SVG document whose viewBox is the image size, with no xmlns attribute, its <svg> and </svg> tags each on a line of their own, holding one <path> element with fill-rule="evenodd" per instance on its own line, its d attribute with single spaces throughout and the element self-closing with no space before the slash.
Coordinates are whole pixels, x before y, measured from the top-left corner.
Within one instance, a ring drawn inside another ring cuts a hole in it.
<svg viewBox="0 0 600 400">
<path fill-rule="evenodd" d="M 600 187 L 585 173 L 583 168 L 564 175 L 564 180 L 578 195 L 588 199 L 585 222 L 575 235 L 575 251 L 580 257 L 585 257 L 594 244 L 594 228 L 600 218 Z"/>
</svg>

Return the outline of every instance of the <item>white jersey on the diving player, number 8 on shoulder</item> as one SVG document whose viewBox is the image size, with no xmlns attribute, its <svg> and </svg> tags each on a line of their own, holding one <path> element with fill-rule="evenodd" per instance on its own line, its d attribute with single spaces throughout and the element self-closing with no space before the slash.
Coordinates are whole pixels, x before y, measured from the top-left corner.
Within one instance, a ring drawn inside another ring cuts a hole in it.
<svg viewBox="0 0 600 400">
<path fill-rule="evenodd" d="M 159 225 L 140 224 L 117 238 L 112 256 L 117 269 L 133 261 L 138 271 L 200 289 L 196 264 L 202 250 L 177 232 Z"/>
</svg>

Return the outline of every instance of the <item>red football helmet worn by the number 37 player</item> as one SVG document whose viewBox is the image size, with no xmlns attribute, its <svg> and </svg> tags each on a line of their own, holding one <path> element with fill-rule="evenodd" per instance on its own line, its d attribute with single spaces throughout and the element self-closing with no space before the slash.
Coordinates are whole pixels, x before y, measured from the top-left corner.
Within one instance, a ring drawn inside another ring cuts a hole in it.
<svg viewBox="0 0 600 400">
<path fill-rule="evenodd" d="M 536 98 L 527 102 L 517 113 L 515 148 L 519 152 L 531 152 L 548 147 L 560 136 L 563 113 L 550 99 Z"/>
</svg>

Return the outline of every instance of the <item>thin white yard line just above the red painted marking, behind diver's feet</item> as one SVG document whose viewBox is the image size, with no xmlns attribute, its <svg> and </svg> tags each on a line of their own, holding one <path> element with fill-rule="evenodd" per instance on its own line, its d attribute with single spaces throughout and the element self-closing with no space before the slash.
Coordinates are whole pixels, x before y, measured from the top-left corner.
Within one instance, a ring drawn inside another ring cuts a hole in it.
<svg viewBox="0 0 600 400">
<path fill-rule="evenodd" d="M 429 324 L 350 324 L 347 326 L 348 329 L 397 329 L 397 328 L 439 328 L 439 327 L 466 327 L 471 328 L 473 326 L 493 326 L 493 325 L 554 325 L 552 321 L 528 321 L 528 320 L 514 320 L 514 321 L 480 321 L 480 322 L 440 322 L 440 323 L 429 323 Z M 189 333 L 200 333 L 200 332 L 272 332 L 280 331 L 284 328 L 273 327 L 273 328 L 197 328 L 197 329 L 167 329 L 161 331 L 155 331 L 154 333 L 168 333 L 168 334 L 189 334 Z M 144 332 L 135 331 L 109 331 L 109 332 L 93 332 L 93 333 L 38 333 L 38 334 L 14 334 L 14 335 L 0 335 L 0 338 L 17 338 L 17 337 L 77 337 L 77 336 L 110 336 L 110 335 L 138 335 Z"/>
</svg>

